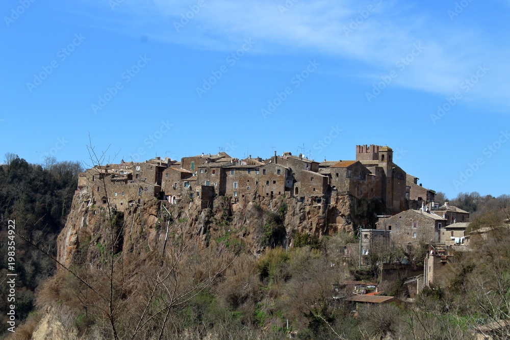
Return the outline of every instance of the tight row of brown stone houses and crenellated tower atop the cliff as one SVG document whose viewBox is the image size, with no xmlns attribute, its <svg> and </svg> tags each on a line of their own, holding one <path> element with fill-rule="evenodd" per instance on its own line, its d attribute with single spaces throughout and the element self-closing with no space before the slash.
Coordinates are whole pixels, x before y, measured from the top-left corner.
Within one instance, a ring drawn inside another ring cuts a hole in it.
<svg viewBox="0 0 510 340">
<path fill-rule="evenodd" d="M 356 145 L 355 160 L 317 162 L 284 152 L 269 159 L 233 158 L 225 152 L 182 158 L 157 157 L 141 163 L 96 166 L 81 173 L 78 190 L 86 189 L 97 202 L 118 211 L 157 197 L 171 204 L 200 200 L 203 207 L 218 196 L 246 205 L 254 197 L 292 197 L 304 204 L 328 204 L 332 197 L 352 195 L 382 203 L 382 214 L 419 208 L 435 192 L 418 185 L 393 162 L 388 146 Z M 103 185 L 105 178 L 105 185 Z"/>
</svg>

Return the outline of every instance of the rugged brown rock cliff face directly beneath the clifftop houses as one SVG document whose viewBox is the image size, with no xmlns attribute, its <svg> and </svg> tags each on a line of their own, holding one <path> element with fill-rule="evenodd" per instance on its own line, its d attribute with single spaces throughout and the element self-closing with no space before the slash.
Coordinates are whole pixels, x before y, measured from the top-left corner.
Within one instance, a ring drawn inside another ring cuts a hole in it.
<svg viewBox="0 0 510 340">
<path fill-rule="evenodd" d="M 176 234 L 198 236 L 195 242 L 202 248 L 237 247 L 257 253 L 267 246 L 285 245 L 287 233 L 292 246 L 296 232 L 326 236 L 352 232 L 360 225 L 368 227 L 377 208 L 377 202 L 348 195 L 333 196 L 330 204 L 315 205 L 288 197 L 253 197 L 244 206 L 217 197 L 206 209 L 201 209 L 199 202 L 170 205 L 154 198 L 121 213 L 109 211 L 106 204 L 91 204 L 89 194 L 82 191 L 74 195 L 59 236 L 58 260 L 66 267 L 93 263 L 112 243 L 114 253 L 134 251 L 142 241 L 147 241 L 146 250 L 162 250 Z"/>
</svg>

